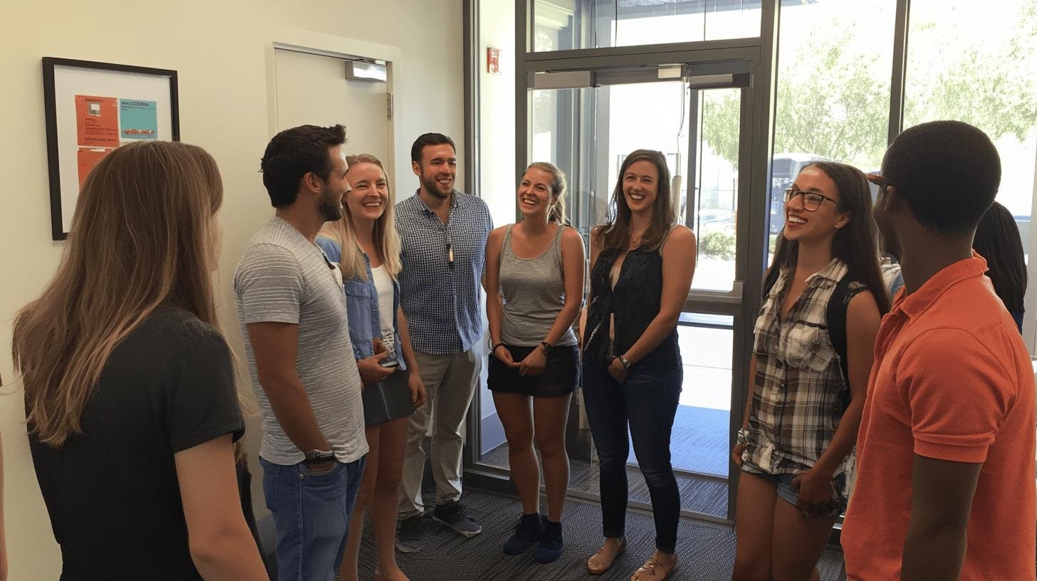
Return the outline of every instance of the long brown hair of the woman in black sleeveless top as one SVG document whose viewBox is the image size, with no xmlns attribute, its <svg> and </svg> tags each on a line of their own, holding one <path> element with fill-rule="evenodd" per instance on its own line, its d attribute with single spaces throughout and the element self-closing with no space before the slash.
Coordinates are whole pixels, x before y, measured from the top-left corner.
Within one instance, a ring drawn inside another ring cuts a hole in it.
<svg viewBox="0 0 1037 581">
<path fill-rule="evenodd" d="M 658 248 L 666 240 L 670 228 L 676 223 L 676 214 L 673 209 L 673 199 L 670 196 L 670 169 L 666 165 L 666 156 L 662 151 L 652 149 L 638 149 L 626 156 L 619 168 L 619 178 L 616 181 L 616 188 L 612 191 L 612 203 L 609 206 L 609 220 L 598 226 L 597 240 L 600 241 L 601 249 L 613 248 L 625 249 L 630 240 L 630 206 L 626 205 L 626 196 L 623 195 L 623 174 L 635 162 L 647 161 L 655 166 L 658 172 L 656 181 L 655 203 L 652 205 L 651 223 L 648 229 L 641 237 L 641 247 L 648 249 Z"/>
</svg>

